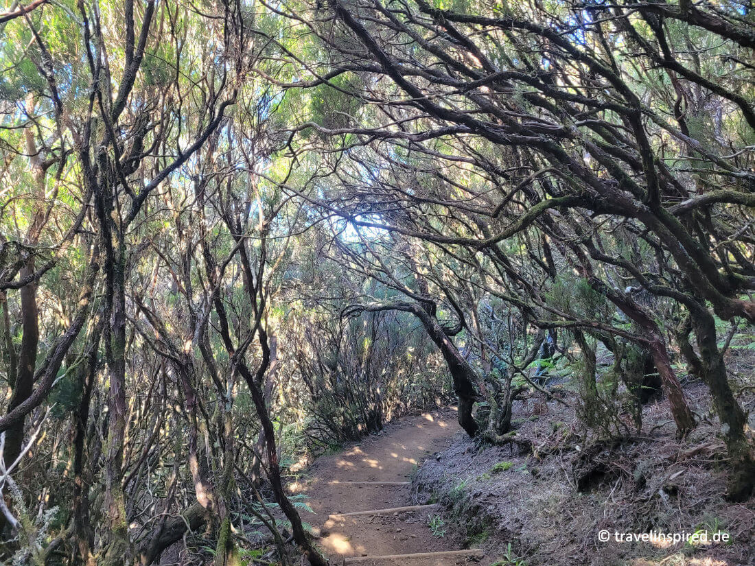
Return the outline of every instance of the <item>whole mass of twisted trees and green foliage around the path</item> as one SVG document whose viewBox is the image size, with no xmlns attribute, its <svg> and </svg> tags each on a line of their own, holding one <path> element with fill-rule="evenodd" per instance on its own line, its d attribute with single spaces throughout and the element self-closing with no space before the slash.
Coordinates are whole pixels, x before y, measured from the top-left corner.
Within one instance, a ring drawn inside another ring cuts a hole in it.
<svg viewBox="0 0 755 566">
<path fill-rule="evenodd" d="M 755 323 L 753 21 L 6 2 L 3 558 L 153 564 L 201 526 L 212 552 L 182 563 L 236 564 L 251 522 L 320 566 L 294 460 L 451 401 L 470 437 L 512 441 L 528 391 L 599 437 L 662 396 L 683 436 L 680 381 L 701 380 L 747 500 L 752 375 L 726 353 Z"/>
</svg>

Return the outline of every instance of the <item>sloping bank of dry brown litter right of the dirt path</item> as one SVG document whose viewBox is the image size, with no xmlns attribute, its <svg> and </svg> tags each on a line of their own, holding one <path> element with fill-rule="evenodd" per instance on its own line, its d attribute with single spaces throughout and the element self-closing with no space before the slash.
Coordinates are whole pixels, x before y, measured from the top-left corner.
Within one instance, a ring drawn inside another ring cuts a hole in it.
<svg viewBox="0 0 755 566">
<path fill-rule="evenodd" d="M 609 442 L 584 436 L 571 408 L 517 401 L 516 435 L 534 451 L 459 432 L 414 475 L 414 502 L 439 502 L 443 544 L 482 546 L 484 566 L 755 566 L 755 497 L 725 499 L 726 451 L 707 389 L 687 383 L 685 393 L 700 423 L 682 440 L 664 399 L 646 405 L 640 435 Z M 752 417 L 755 395 L 741 401 Z M 729 541 L 615 540 L 649 531 Z"/>
</svg>

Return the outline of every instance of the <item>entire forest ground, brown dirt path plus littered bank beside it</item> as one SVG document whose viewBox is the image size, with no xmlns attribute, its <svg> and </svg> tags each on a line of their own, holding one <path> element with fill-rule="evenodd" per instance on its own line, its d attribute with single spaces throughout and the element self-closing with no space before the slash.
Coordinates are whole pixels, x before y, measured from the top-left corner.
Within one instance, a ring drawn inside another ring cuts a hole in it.
<svg viewBox="0 0 755 566">
<path fill-rule="evenodd" d="M 314 515 L 304 518 L 337 566 L 755 566 L 755 498 L 725 499 L 726 451 L 707 389 L 691 382 L 685 393 L 699 424 L 681 440 L 664 399 L 644 408 L 641 434 L 596 441 L 573 408 L 530 398 L 516 402 L 513 426 L 533 451 L 472 441 L 454 411 L 436 411 L 319 457 L 290 487 L 310 497 Z M 740 400 L 752 417 L 755 395 Z M 600 531 L 729 540 L 603 542 Z M 407 556 L 461 549 L 482 552 Z"/>
</svg>

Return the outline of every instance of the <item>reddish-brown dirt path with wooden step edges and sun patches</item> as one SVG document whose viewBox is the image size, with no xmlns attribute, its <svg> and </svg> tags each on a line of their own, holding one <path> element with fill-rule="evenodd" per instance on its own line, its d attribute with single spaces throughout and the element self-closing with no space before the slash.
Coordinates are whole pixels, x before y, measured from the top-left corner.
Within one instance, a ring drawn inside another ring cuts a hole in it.
<svg viewBox="0 0 755 566">
<path fill-rule="evenodd" d="M 457 434 L 455 414 L 429 413 L 393 423 L 362 444 L 332 456 L 321 457 L 311 469 L 307 485 L 315 515 L 307 521 L 319 526 L 322 549 L 332 564 L 344 558 L 408 555 L 458 550 L 448 537 L 436 537 L 428 516 L 437 509 L 390 512 L 383 515 L 328 517 L 328 515 L 411 506 L 408 484 L 353 484 L 344 482 L 408 482 L 414 466 L 448 447 Z M 430 558 L 360 560 L 359 566 L 411 564 L 411 566 L 455 566 L 468 558 L 444 555 Z M 347 561 L 351 564 L 353 561 Z"/>
</svg>

